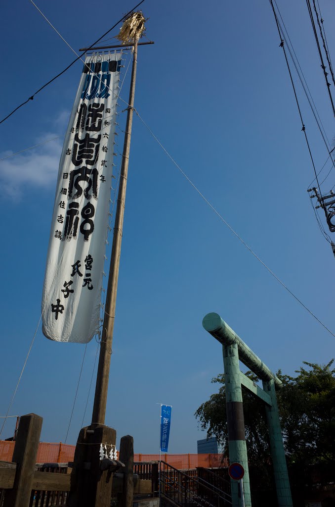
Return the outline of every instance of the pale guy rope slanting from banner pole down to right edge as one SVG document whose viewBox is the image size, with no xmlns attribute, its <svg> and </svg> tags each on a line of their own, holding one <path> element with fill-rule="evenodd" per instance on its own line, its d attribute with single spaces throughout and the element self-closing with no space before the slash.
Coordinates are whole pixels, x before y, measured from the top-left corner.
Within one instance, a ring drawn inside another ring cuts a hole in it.
<svg viewBox="0 0 335 507">
<path fill-rule="evenodd" d="M 143 118 L 139 115 L 139 113 L 136 111 L 136 109 L 134 108 L 134 112 L 136 113 L 136 115 L 139 117 L 139 119 L 141 120 L 141 122 L 143 123 L 143 125 L 148 129 L 148 131 L 150 132 L 150 134 L 152 135 L 152 137 L 157 141 L 157 143 L 159 144 L 159 146 L 161 147 L 161 149 L 165 152 L 166 155 L 168 155 L 168 157 L 171 159 L 171 161 L 175 164 L 175 166 L 179 169 L 179 171 L 183 174 L 183 176 L 187 179 L 187 181 L 189 182 L 189 184 L 194 188 L 194 190 L 200 195 L 200 197 L 205 201 L 206 204 L 208 204 L 208 206 L 210 206 L 210 208 L 215 212 L 215 214 L 217 216 L 219 216 L 220 220 L 228 227 L 228 229 L 230 229 L 230 231 L 240 240 L 240 242 L 249 250 L 250 253 L 252 253 L 252 255 L 265 267 L 265 269 L 280 283 L 280 285 L 282 285 L 285 290 L 303 307 L 305 308 L 305 310 L 312 316 L 315 318 L 315 320 L 317 320 L 317 322 L 319 322 L 319 324 L 322 325 L 322 327 L 328 331 L 328 333 L 330 333 L 330 335 L 335 338 L 335 334 L 330 331 L 329 328 L 326 327 L 326 325 L 320 320 L 318 319 L 318 317 L 309 309 L 307 308 L 307 306 L 298 298 L 298 296 L 296 296 L 288 287 L 287 285 L 284 284 L 284 282 L 282 282 L 280 280 L 280 278 L 278 278 L 277 275 L 275 275 L 275 273 L 258 257 L 258 255 L 254 252 L 254 250 L 252 250 L 252 248 L 250 248 L 246 243 L 245 241 L 241 238 L 241 236 L 239 236 L 237 234 L 237 232 L 228 224 L 228 222 L 226 222 L 226 220 L 223 218 L 223 216 L 219 213 L 219 211 L 213 206 L 213 204 L 210 203 L 210 201 L 208 201 L 206 199 L 206 197 L 200 192 L 200 190 L 194 185 L 194 183 L 192 182 L 192 180 L 187 176 L 187 174 L 182 170 L 182 168 L 177 164 L 177 162 L 174 160 L 174 158 L 170 155 L 170 153 L 163 147 L 162 143 L 159 141 L 159 139 L 155 136 L 155 134 L 152 132 L 152 130 L 150 129 L 150 127 L 145 123 L 145 121 L 143 120 Z"/>
</svg>

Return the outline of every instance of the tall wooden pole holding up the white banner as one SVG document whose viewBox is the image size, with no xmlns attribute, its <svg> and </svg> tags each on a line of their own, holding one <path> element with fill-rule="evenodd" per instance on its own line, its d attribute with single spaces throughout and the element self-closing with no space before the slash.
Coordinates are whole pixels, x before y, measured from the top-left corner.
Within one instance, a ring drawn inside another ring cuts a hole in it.
<svg viewBox="0 0 335 507">
<path fill-rule="evenodd" d="M 113 232 L 113 245 L 110 259 L 110 268 L 108 276 L 105 315 L 103 323 L 103 332 L 100 346 L 99 366 L 97 373 L 97 383 L 94 396 L 94 406 L 92 414 L 92 423 L 105 423 L 107 391 L 109 380 L 110 357 L 112 351 L 114 316 L 116 306 L 116 292 L 118 272 L 120 265 L 121 241 L 123 231 L 123 215 L 125 203 L 125 190 L 127 188 L 128 163 L 130 153 L 130 141 L 133 123 L 133 107 L 135 96 L 135 81 L 137 67 L 137 43 L 134 44 L 132 79 L 129 93 L 129 107 L 127 113 L 127 124 L 125 127 L 123 154 L 121 163 L 120 183 L 117 196 L 115 224 Z"/>
</svg>

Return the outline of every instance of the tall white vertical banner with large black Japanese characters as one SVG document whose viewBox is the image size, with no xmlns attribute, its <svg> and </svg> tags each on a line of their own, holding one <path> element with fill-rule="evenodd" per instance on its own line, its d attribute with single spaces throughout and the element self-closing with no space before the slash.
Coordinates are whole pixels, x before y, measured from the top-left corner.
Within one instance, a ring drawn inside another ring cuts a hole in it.
<svg viewBox="0 0 335 507">
<path fill-rule="evenodd" d="M 77 343 L 99 331 L 121 53 L 85 63 L 59 164 L 42 296 L 44 335 Z"/>
</svg>

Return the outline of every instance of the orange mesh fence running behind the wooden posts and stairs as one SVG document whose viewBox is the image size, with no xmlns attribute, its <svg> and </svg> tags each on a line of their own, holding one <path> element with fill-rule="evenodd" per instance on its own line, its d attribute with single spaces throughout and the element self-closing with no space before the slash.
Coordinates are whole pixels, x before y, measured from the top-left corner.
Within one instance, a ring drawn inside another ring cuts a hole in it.
<svg viewBox="0 0 335 507">
<path fill-rule="evenodd" d="M 0 440 L 0 461 L 12 461 L 15 442 Z M 67 463 L 73 461 L 74 445 L 40 442 L 36 463 Z M 161 460 L 179 470 L 204 466 L 216 468 L 228 466 L 223 454 L 161 454 Z M 134 461 L 159 461 L 159 454 L 134 454 Z"/>
</svg>

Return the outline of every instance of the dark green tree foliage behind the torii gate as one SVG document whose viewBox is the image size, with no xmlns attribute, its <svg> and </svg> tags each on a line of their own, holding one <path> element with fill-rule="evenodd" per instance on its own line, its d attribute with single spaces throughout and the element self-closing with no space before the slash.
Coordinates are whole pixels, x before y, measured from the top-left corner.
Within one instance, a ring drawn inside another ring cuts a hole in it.
<svg viewBox="0 0 335 507">
<path fill-rule="evenodd" d="M 297 376 L 277 376 L 283 387 L 277 391 L 283 442 L 288 464 L 307 466 L 335 462 L 335 369 L 333 359 L 327 365 L 304 361 Z M 246 374 L 254 382 L 258 378 Z M 224 375 L 212 380 L 220 384 L 219 392 L 212 394 L 195 412 L 201 429 L 207 437 L 217 437 L 228 455 L 228 431 Z M 246 444 L 250 462 L 269 465 L 269 440 L 264 404 L 242 386 Z"/>
</svg>

